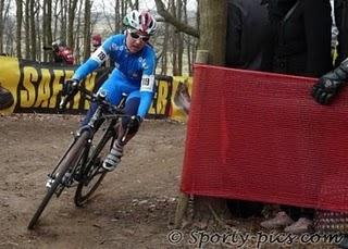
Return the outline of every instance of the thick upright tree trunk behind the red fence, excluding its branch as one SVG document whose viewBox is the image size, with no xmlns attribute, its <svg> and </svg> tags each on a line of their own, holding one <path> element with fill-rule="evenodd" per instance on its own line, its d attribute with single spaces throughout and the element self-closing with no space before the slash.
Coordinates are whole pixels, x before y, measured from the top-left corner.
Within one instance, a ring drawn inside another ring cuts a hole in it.
<svg viewBox="0 0 348 249">
<path fill-rule="evenodd" d="M 226 39 L 226 0 L 201 0 L 199 2 L 199 50 L 196 63 L 224 65 Z M 203 84 L 203 83 L 198 83 Z M 211 197 L 194 196 L 192 219 L 200 228 L 206 228 L 210 222 L 223 223 L 229 220 L 226 200 Z M 175 227 L 183 225 L 187 215 L 189 197 L 181 194 L 175 213 Z"/>
</svg>

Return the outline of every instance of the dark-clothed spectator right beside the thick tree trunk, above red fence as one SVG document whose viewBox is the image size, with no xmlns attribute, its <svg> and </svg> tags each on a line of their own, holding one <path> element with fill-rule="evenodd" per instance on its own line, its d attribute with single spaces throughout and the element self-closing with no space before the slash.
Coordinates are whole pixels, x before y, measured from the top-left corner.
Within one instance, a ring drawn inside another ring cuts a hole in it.
<svg viewBox="0 0 348 249">
<path fill-rule="evenodd" d="M 225 65 L 260 70 L 269 33 L 268 10 L 261 0 L 228 0 Z"/>
</svg>

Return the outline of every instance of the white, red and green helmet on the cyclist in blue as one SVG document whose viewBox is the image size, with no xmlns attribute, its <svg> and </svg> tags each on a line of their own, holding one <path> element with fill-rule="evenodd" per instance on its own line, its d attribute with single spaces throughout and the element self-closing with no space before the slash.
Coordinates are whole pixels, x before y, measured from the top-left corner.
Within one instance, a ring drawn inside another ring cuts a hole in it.
<svg viewBox="0 0 348 249">
<path fill-rule="evenodd" d="M 148 11 L 133 10 L 123 20 L 124 25 L 132 29 L 139 30 L 146 35 L 156 34 L 157 22 Z"/>
</svg>

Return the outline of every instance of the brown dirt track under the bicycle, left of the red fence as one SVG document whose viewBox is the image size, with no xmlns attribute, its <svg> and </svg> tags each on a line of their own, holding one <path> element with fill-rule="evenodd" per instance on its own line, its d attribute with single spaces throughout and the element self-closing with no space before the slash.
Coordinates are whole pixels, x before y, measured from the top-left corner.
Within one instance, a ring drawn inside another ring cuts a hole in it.
<svg viewBox="0 0 348 249">
<path fill-rule="evenodd" d="M 186 126 L 146 121 L 85 208 L 67 189 L 26 226 L 79 116 L 0 116 L 0 248 L 169 248 Z"/>
</svg>

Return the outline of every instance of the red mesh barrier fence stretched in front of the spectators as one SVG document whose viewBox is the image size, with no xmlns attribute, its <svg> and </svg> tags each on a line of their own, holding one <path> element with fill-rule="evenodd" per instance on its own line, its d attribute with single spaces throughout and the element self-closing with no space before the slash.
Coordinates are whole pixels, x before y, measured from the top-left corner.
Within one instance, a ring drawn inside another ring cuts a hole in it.
<svg viewBox="0 0 348 249">
<path fill-rule="evenodd" d="M 348 211 L 348 92 L 314 80 L 196 65 L 182 191 Z"/>
</svg>

